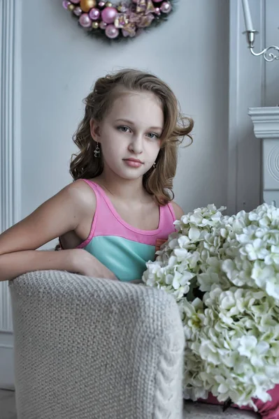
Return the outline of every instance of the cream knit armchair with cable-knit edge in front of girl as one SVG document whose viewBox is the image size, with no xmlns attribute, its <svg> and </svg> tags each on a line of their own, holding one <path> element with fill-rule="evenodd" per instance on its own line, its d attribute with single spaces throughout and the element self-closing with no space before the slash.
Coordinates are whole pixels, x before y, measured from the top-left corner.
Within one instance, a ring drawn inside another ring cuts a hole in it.
<svg viewBox="0 0 279 419">
<path fill-rule="evenodd" d="M 10 294 L 17 419 L 257 417 L 196 404 L 183 416 L 183 325 L 163 291 L 42 271 Z"/>
</svg>

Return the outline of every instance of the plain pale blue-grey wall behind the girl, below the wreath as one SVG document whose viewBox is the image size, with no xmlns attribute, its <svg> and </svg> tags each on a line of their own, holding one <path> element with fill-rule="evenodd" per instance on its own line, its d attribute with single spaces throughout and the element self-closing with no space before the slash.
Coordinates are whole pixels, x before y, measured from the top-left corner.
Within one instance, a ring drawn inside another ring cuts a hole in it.
<svg viewBox="0 0 279 419">
<path fill-rule="evenodd" d="M 120 66 L 171 84 L 196 123 L 181 149 L 176 200 L 185 211 L 227 201 L 229 1 L 183 0 L 169 22 L 129 43 L 87 37 L 61 1 L 22 8 L 22 217 L 71 182 L 71 135 L 94 80 Z"/>
</svg>

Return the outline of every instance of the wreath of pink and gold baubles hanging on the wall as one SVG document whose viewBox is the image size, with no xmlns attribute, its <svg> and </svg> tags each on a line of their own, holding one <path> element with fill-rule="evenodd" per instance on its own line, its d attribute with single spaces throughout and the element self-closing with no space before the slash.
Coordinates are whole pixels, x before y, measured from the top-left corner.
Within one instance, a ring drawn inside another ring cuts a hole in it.
<svg viewBox="0 0 279 419">
<path fill-rule="evenodd" d="M 79 24 L 90 34 L 107 40 L 133 38 L 151 26 L 165 20 L 173 10 L 175 0 L 71 0 L 63 1 Z"/>
</svg>

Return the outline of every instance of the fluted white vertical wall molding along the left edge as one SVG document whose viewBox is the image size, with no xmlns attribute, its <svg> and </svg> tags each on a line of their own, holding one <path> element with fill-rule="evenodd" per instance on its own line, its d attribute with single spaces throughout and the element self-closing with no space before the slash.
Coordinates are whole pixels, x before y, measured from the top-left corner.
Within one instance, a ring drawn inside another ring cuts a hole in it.
<svg viewBox="0 0 279 419">
<path fill-rule="evenodd" d="M 20 220 L 21 8 L 0 2 L 0 233 Z M 0 332 L 12 332 L 8 283 L 0 283 Z"/>
</svg>

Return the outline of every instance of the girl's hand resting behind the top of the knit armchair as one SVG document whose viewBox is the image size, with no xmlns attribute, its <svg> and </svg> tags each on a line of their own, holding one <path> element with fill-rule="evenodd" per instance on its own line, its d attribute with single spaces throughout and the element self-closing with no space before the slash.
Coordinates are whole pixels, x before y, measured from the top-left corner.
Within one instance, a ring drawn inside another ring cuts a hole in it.
<svg viewBox="0 0 279 419">
<path fill-rule="evenodd" d="M 118 281 L 113 272 L 84 249 L 73 249 L 73 267 L 76 273 L 86 277 Z"/>
</svg>

